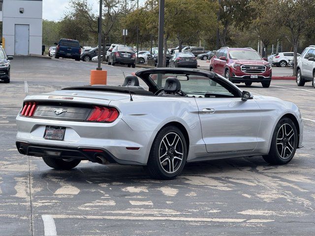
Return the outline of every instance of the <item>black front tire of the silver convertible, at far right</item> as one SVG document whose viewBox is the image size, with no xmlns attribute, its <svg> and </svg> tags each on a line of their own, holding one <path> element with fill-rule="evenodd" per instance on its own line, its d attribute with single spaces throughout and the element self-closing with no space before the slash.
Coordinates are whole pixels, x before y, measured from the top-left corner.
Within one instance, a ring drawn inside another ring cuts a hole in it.
<svg viewBox="0 0 315 236">
<path fill-rule="evenodd" d="M 282 128 L 283 126 L 286 127 L 285 131 Z M 293 133 L 289 131 L 291 129 Z M 283 135 L 284 133 L 285 135 Z M 283 136 L 285 139 L 283 138 L 282 140 L 280 140 L 281 136 Z M 278 124 L 276 125 L 274 134 L 272 136 L 269 153 L 268 155 L 264 155 L 263 158 L 266 162 L 270 164 L 284 165 L 292 160 L 295 154 L 297 145 L 298 145 L 298 136 L 297 136 L 297 129 L 295 127 L 294 122 L 290 118 L 286 118 L 286 117 L 281 118 Z"/>
</svg>

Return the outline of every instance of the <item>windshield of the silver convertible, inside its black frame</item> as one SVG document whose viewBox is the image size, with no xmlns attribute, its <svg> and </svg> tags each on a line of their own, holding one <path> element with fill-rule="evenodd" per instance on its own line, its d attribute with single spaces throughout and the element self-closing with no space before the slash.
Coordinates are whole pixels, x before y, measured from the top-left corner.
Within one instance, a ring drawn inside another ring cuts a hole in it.
<svg viewBox="0 0 315 236">
<path fill-rule="evenodd" d="M 181 90 L 190 97 L 211 97 L 216 94 L 221 97 L 234 97 L 234 95 L 222 85 L 216 83 L 203 75 L 194 74 L 173 74 L 173 73 L 155 73 L 150 74 L 150 78 L 158 85 L 164 88 L 168 77 L 176 77 L 180 80 Z M 160 78 L 160 79 L 158 79 Z M 160 80 L 160 81 L 158 81 Z M 226 87 L 226 86 L 225 86 Z"/>
</svg>

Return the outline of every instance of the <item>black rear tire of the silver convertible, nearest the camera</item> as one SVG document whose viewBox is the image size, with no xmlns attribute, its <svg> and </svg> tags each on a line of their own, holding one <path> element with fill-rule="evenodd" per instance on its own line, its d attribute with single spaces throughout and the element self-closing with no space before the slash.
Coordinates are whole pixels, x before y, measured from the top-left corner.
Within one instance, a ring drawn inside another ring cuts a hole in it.
<svg viewBox="0 0 315 236">
<path fill-rule="evenodd" d="M 170 148 L 170 146 L 168 145 L 168 142 L 163 141 L 165 140 L 165 137 L 169 142 L 172 142 L 171 143 L 173 144 L 172 148 Z M 174 144 L 174 139 L 175 139 L 176 145 Z M 178 142 L 176 141 L 176 139 L 178 139 Z M 179 144 L 182 144 L 182 145 L 179 145 Z M 177 153 L 176 150 L 182 153 L 182 155 L 177 154 L 178 157 L 175 156 L 174 158 L 174 153 Z M 165 153 L 162 154 L 162 156 L 160 157 L 161 153 L 164 151 Z M 163 156 L 165 156 L 164 160 L 162 159 Z M 182 158 L 182 159 L 180 160 L 179 158 Z M 186 158 L 187 158 L 187 146 L 186 146 L 185 137 L 182 131 L 175 126 L 165 126 L 158 132 L 152 144 L 151 151 L 149 154 L 149 159 L 148 159 L 147 170 L 149 174 L 151 175 L 151 177 L 153 178 L 173 179 L 181 174 L 186 163 Z M 160 162 L 160 159 L 162 160 L 161 162 Z M 166 164 L 164 165 L 162 163 L 166 163 Z M 173 165 L 171 163 L 175 163 L 175 164 Z M 166 169 L 170 171 L 166 171 Z"/>
</svg>

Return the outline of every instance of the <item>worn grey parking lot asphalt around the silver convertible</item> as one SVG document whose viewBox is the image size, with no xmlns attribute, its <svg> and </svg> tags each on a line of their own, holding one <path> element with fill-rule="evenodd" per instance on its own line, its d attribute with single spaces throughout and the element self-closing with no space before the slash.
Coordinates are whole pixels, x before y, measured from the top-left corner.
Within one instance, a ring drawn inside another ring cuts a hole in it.
<svg viewBox="0 0 315 236">
<path fill-rule="evenodd" d="M 272 81 L 240 85 L 254 94 L 296 103 L 304 148 L 284 166 L 261 156 L 188 164 L 174 180 L 155 180 L 142 167 L 83 161 L 71 171 L 49 168 L 15 148 L 15 116 L 28 94 L 89 84 L 95 63 L 16 57 L 11 83 L 0 83 L 0 236 L 43 235 L 315 235 L 315 89 Z M 108 84 L 123 71 L 102 65 Z M 27 89 L 26 89 L 27 88 Z"/>
</svg>

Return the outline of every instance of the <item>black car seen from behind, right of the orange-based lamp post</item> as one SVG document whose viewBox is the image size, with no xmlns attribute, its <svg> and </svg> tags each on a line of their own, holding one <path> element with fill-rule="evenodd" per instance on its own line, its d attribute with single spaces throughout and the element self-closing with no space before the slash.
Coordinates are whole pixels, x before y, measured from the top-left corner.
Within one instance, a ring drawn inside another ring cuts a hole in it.
<svg viewBox="0 0 315 236">
<path fill-rule="evenodd" d="M 132 66 L 132 68 L 136 67 L 136 54 L 132 50 L 132 48 L 125 46 L 115 46 L 108 56 L 108 64 L 115 65 L 122 64 L 128 65 L 128 67 Z"/>
</svg>

